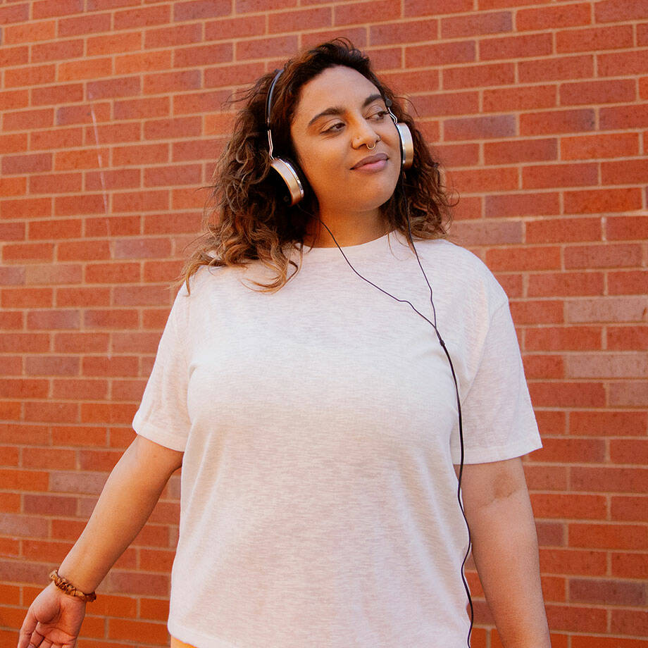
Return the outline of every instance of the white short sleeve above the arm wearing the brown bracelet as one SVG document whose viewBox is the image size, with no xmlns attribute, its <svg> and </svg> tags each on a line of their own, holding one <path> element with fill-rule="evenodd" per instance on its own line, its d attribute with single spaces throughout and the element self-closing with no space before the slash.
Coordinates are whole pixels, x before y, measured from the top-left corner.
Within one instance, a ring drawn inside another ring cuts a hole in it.
<svg viewBox="0 0 648 648">
<path fill-rule="evenodd" d="M 191 425 L 187 411 L 188 302 L 189 295 L 182 288 L 175 298 L 142 402 L 132 421 L 138 435 L 179 451 L 185 449 Z"/>
</svg>

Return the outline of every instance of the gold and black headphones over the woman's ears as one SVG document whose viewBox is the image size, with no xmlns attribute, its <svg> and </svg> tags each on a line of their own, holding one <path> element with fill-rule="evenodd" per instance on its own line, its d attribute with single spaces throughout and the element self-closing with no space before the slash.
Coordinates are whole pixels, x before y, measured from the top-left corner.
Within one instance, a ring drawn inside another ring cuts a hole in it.
<svg viewBox="0 0 648 648">
<path fill-rule="evenodd" d="M 304 173 L 299 168 L 299 166 L 294 163 L 290 158 L 282 157 L 275 158 L 273 156 L 273 135 L 270 130 L 270 114 L 272 112 L 272 101 L 273 93 L 275 92 L 275 85 L 279 80 L 279 77 L 282 75 L 283 70 L 278 70 L 275 74 L 273 82 L 270 84 L 270 89 L 268 90 L 268 96 L 266 98 L 266 128 L 268 130 L 268 147 L 270 155 L 270 166 L 282 177 L 282 180 L 285 182 L 285 185 L 288 189 L 290 206 L 297 204 L 302 198 L 304 198 L 306 187 L 306 177 Z M 381 93 L 382 94 L 382 93 Z M 401 167 L 404 169 L 409 169 L 412 166 L 414 161 L 414 142 L 412 139 L 412 134 L 409 130 L 407 124 L 399 122 L 394 113 L 392 113 L 392 101 L 391 99 L 384 98 L 385 106 L 387 106 L 387 112 L 390 113 L 390 117 L 396 125 L 398 131 L 398 139 L 400 142 L 401 149 Z"/>
</svg>

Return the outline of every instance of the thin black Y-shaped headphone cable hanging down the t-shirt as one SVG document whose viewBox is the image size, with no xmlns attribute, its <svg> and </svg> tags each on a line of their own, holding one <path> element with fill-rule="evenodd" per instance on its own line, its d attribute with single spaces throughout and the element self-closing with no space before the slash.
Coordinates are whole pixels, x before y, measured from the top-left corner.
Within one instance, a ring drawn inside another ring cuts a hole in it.
<svg viewBox="0 0 648 648">
<path fill-rule="evenodd" d="M 401 176 L 402 177 L 402 176 Z M 463 521 L 466 523 L 466 530 L 468 531 L 468 547 L 466 549 L 466 555 L 463 556 L 463 561 L 461 562 L 461 582 L 463 582 L 463 589 L 466 590 L 466 596 L 468 597 L 468 605 L 470 606 L 471 609 L 471 623 L 468 626 L 468 638 L 467 638 L 467 645 L 468 648 L 471 648 L 471 633 L 473 632 L 473 623 L 475 620 L 475 611 L 473 609 L 473 599 L 471 598 L 471 590 L 468 587 L 468 582 L 466 581 L 466 575 L 463 573 L 463 568 L 466 566 L 466 561 L 468 560 L 468 556 L 471 553 L 471 546 L 472 546 L 472 540 L 471 540 L 471 528 L 468 526 L 468 520 L 466 518 L 466 512 L 463 510 L 463 502 L 461 501 L 461 477 L 463 475 L 463 421 L 461 419 L 461 401 L 459 399 L 459 386 L 457 385 L 457 380 L 456 380 L 456 375 L 454 373 L 454 366 L 452 365 L 452 361 L 450 359 L 450 354 L 448 353 L 448 349 L 446 348 L 445 342 L 443 341 L 441 334 L 439 330 L 437 329 L 437 311 L 435 310 L 435 304 L 434 301 L 432 301 L 432 286 L 430 286 L 430 282 L 428 281 L 428 275 L 425 274 L 425 270 L 423 270 L 423 266 L 420 263 L 420 258 L 418 258 L 418 252 L 416 251 L 416 247 L 414 247 L 414 242 L 412 238 L 412 230 L 411 230 L 411 225 L 409 221 L 409 202 L 405 202 L 405 208 L 406 208 L 406 215 L 407 215 L 407 230 L 409 232 L 409 240 L 411 243 L 411 246 L 414 250 L 414 254 L 416 254 L 416 261 L 418 261 L 418 266 L 420 268 L 420 271 L 423 273 L 423 277 L 425 277 L 425 283 L 428 284 L 428 288 L 430 289 L 430 304 L 432 304 L 432 314 L 434 316 L 434 323 L 432 323 L 423 313 L 420 313 L 411 301 L 408 301 L 407 299 L 399 299 L 398 297 L 394 297 L 394 295 L 390 294 L 386 290 L 383 290 L 380 286 L 375 285 L 375 283 L 371 282 L 367 278 L 363 277 L 357 270 L 354 268 L 354 266 L 351 266 L 351 263 L 349 263 L 349 259 L 347 258 L 347 255 L 344 254 L 344 251 L 342 250 L 341 247 L 339 247 L 339 244 L 337 243 L 337 240 L 335 240 L 335 236 L 333 236 L 333 232 L 329 230 L 328 225 L 324 223 L 321 218 L 318 216 L 318 220 L 328 233 L 331 235 L 331 238 L 337 245 L 337 248 L 339 249 L 340 252 L 342 252 L 342 256 L 344 256 L 344 261 L 347 261 L 347 264 L 349 265 L 349 268 L 356 273 L 356 275 L 359 276 L 363 281 L 366 281 L 368 284 L 372 285 L 374 288 L 378 288 L 380 292 L 385 293 L 388 297 L 391 297 L 392 299 L 395 299 L 396 301 L 400 301 L 401 303 L 409 304 L 413 311 L 418 313 L 432 328 L 435 330 L 437 334 L 437 338 L 439 339 L 439 344 L 441 344 L 442 349 L 445 351 L 445 354 L 448 358 L 448 362 L 450 363 L 450 371 L 452 373 L 452 378 L 454 380 L 454 390 L 456 392 L 456 406 L 457 406 L 457 411 L 459 413 L 459 449 L 460 449 L 460 456 L 459 456 L 459 476 L 457 478 L 457 491 L 456 491 L 456 496 L 457 496 L 457 501 L 459 501 L 459 509 L 461 510 L 461 516 L 463 516 Z"/>
</svg>

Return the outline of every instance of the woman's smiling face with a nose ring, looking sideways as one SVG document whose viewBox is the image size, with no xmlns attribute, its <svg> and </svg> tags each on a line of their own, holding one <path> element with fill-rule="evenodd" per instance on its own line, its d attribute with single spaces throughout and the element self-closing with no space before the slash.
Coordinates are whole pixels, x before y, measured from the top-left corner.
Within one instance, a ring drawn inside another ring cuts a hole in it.
<svg viewBox="0 0 648 648">
<path fill-rule="evenodd" d="M 378 88 L 356 70 L 327 68 L 304 84 L 290 134 L 320 216 L 378 214 L 394 193 L 401 170 L 398 131 Z"/>
</svg>

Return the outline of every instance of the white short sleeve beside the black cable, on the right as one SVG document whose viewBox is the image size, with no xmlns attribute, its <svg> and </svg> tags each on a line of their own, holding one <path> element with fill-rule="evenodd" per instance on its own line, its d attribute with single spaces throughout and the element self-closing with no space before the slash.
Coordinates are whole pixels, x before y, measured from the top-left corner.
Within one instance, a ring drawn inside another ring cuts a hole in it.
<svg viewBox="0 0 648 648">
<path fill-rule="evenodd" d="M 461 415 L 465 463 L 513 459 L 542 447 L 508 300 L 492 313 Z M 459 421 L 451 446 L 459 463 Z"/>
</svg>

